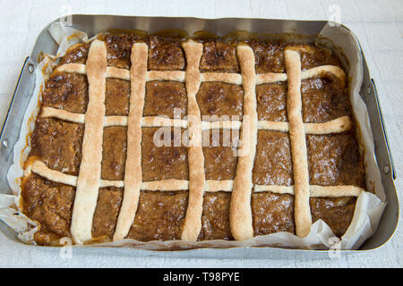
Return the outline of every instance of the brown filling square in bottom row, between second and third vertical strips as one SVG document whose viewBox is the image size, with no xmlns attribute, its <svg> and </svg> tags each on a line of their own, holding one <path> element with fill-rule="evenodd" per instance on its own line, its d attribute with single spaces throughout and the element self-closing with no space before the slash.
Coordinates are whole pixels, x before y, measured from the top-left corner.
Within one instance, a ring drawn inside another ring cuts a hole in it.
<svg viewBox="0 0 403 286">
<path fill-rule="evenodd" d="M 188 191 L 141 191 L 127 237 L 133 240 L 180 240 Z"/>
</svg>

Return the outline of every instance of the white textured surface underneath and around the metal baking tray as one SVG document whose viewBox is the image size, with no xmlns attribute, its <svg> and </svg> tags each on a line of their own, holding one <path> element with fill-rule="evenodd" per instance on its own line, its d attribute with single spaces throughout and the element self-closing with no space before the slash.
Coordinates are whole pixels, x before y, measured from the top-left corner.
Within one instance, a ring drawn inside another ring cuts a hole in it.
<svg viewBox="0 0 403 286">
<path fill-rule="evenodd" d="M 378 88 L 382 113 L 390 138 L 397 172 L 399 197 L 403 187 L 403 1 L 364 0 L 1 0 L 0 38 L 0 121 L 3 122 L 21 71 L 21 64 L 35 43 L 40 30 L 69 13 L 108 13 L 138 16 L 189 16 L 201 18 L 249 17 L 293 20 L 335 20 L 356 33 L 364 48 L 372 78 Z M 314 7 L 314 8 L 308 8 Z M 401 201 L 401 200 L 400 200 Z M 401 203 L 400 203 L 400 206 Z M 401 223 L 400 223 L 401 224 Z M 0 266 L 3 267 L 401 267 L 402 227 L 382 248 L 335 258 L 200 259 L 82 255 L 72 252 L 63 258 L 57 249 L 33 248 L 8 239 L 0 231 Z"/>
</svg>

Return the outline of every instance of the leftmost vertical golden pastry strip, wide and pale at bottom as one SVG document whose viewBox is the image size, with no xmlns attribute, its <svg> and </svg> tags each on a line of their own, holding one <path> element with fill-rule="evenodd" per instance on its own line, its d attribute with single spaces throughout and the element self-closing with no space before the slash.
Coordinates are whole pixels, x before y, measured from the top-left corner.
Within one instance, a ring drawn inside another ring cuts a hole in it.
<svg viewBox="0 0 403 286">
<path fill-rule="evenodd" d="M 94 40 L 87 60 L 89 104 L 84 118 L 82 158 L 71 226 L 73 240 L 79 244 L 92 238 L 92 217 L 97 206 L 100 185 L 106 74 L 107 47 L 104 42 Z"/>
</svg>

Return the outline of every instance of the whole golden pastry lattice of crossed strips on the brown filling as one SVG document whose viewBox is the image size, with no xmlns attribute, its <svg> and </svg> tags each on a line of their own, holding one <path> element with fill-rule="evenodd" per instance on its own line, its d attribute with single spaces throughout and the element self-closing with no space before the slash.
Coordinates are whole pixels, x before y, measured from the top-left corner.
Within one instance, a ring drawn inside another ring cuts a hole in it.
<svg viewBox="0 0 403 286">
<path fill-rule="evenodd" d="M 305 134 L 339 133 L 350 130 L 353 123 L 348 116 L 339 117 L 330 122 L 304 123 L 301 115 L 301 80 L 331 74 L 336 79 L 339 79 L 340 85 L 343 86 L 346 76 L 344 71 L 339 67 L 322 65 L 307 71 L 301 71 L 298 53 L 286 49 L 287 73 L 268 72 L 256 74 L 254 71 L 253 50 L 251 47 L 241 44 L 236 48 L 241 74 L 228 72 L 201 73 L 199 71 L 199 63 L 201 61 L 202 44 L 188 40 L 182 46 L 187 61 L 186 71 L 147 71 L 148 47 L 142 43 L 133 45 L 131 55 L 132 68 L 130 71 L 107 67 L 106 47 L 99 40 L 92 42 L 86 65 L 67 63 L 56 69 L 56 71 L 87 74 L 89 79 L 90 102 L 86 114 L 74 114 L 53 107 L 43 107 L 42 114 L 40 115 L 42 117 L 56 117 L 64 121 L 85 124 L 81 162 L 81 166 L 83 167 L 79 175 L 75 177 L 51 170 L 47 168 L 46 164 L 35 161 L 25 170 L 24 175 L 28 176 L 30 172 L 36 172 L 50 181 L 62 182 L 77 187 L 78 196 L 76 195 L 76 200 L 74 201 L 72 220 L 72 234 L 77 243 L 83 243 L 85 240 L 91 239 L 90 228 L 92 216 L 100 187 L 113 186 L 124 188 L 124 201 L 116 224 L 114 240 L 123 239 L 127 235 L 134 220 L 140 189 L 162 191 L 189 189 L 189 203 L 181 237 L 182 240 L 197 240 L 198 238 L 201 231 L 202 200 L 205 191 L 233 191 L 230 207 L 230 223 L 231 231 L 236 240 L 245 240 L 253 237 L 250 204 L 252 189 L 255 192 L 270 191 L 279 194 L 295 195 L 295 221 L 296 234 L 298 236 L 306 235 L 312 223 L 309 209 L 310 197 L 356 197 L 360 192 L 365 191 L 355 186 L 323 187 L 309 185 L 306 144 L 304 142 Z M 107 78 L 131 81 L 132 95 L 130 97 L 130 112 L 128 116 L 105 116 L 103 101 L 105 99 Z M 185 82 L 188 97 L 188 114 L 193 115 L 193 121 L 188 122 L 187 120 L 169 119 L 159 116 L 143 117 L 142 108 L 145 97 L 145 83 L 150 80 Z M 243 122 L 202 122 L 201 112 L 195 99 L 202 81 L 220 81 L 243 85 Z M 259 84 L 278 81 L 288 82 L 287 114 L 289 122 L 258 121 L 255 87 Z M 128 127 L 128 150 L 124 181 L 100 179 L 102 133 L 103 128 L 107 126 Z M 189 181 L 175 179 L 141 181 L 141 127 L 159 126 L 180 127 L 189 130 L 189 134 L 191 134 L 190 147 L 188 148 Z M 201 130 L 217 128 L 242 130 L 242 143 L 239 150 L 240 157 L 238 159 L 235 180 L 205 180 Z M 289 132 L 295 174 L 294 179 L 296 182 L 294 186 L 253 185 L 252 170 L 258 130 Z M 89 147 L 89 142 L 91 142 L 91 147 Z M 300 161 L 303 164 L 300 164 Z M 90 170 L 90 172 L 85 170 Z M 90 184 L 89 189 L 87 189 L 87 184 Z"/>
</svg>

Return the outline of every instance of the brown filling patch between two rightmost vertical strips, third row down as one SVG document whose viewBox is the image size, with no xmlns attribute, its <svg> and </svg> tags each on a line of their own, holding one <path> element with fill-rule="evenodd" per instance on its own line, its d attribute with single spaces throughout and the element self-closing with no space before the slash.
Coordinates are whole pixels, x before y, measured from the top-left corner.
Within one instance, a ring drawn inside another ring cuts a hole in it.
<svg viewBox="0 0 403 286">
<path fill-rule="evenodd" d="M 292 169 L 289 135 L 279 131 L 259 130 L 253 166 L 253 183 L 293 185 Z"/>
</svg>

